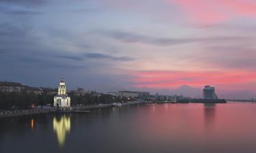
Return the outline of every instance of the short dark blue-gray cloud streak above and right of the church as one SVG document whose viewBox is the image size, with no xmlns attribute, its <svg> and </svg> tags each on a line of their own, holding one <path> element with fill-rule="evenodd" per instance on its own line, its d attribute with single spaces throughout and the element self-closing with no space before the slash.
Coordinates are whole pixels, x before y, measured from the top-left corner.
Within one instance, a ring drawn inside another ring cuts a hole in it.
<svg viewBox="0 0 256 153">
<path fill-rule="evenodd" d="M 132 61 L 133 58 L 127 56 L 115 57 L 108 54 L 99 54 L 99 53 L 85 53 L 85 58 L 98 58 L 98 59 L 109 59 L 113 61 Z"/>
</svg>

